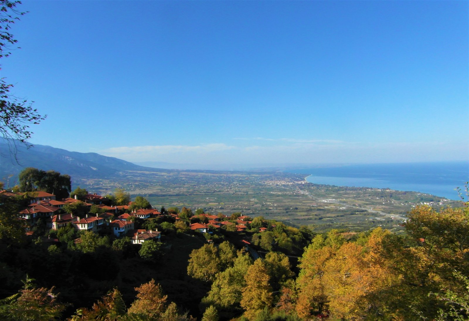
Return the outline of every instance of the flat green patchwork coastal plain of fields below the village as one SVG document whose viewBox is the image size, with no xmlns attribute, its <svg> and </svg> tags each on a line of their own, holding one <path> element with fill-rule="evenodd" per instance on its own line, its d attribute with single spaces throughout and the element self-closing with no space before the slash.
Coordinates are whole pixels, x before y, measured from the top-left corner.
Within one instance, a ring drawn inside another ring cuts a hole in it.
<svg viewBox="0 0 469 321">
<path fill-rule="evenodd" d="M 339 228 L 353 232 L 381 226 L 399 232 L 415 206 L 462 206 L 461 201 L 419 192 L 313 184 L 305 177 L 287 172 L 160 169 L 129 170 L 75 183 L 101 194 L 123 188 L 133 197 L 145 197 L 156 208 L 185 206 L 227 215 L 241 212 L 296 227 L 308 225 L 317 231 Z"/>
</svg>

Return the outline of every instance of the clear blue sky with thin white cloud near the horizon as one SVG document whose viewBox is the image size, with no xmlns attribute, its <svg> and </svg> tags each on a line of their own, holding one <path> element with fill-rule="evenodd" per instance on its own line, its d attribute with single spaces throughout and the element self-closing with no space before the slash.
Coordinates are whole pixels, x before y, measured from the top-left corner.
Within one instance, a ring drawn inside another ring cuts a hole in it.
<svg viewBox="0 0 469 321">
<path fill-rule="evenodd" d="M 23 1 L 33 144 L 133 162 L 469 159 L 468 1 Z"/>
</svg>

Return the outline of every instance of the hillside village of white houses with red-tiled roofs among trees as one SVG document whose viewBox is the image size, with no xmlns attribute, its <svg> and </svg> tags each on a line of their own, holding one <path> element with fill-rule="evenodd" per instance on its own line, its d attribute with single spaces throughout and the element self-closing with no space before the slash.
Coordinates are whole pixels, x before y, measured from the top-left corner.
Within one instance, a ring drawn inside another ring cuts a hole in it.
<svg viewBox="0 0 469 321">
<path fill-rule="evenodd" d="M 213 215 L 201 210 L 197 211 L 197 214 L 192 214 L 192 211 L 185 207 L 181 213 L 174 209 L 170 213 L 164 207 L 160 210 L 151 207 L 138 208 L 139 206 L 135 206 L 135 202 L 131 201 L 125 205 L 112 205 L 111 199 L 96 193 L 86 193 L 80 198 L 75 194 L 73 197 L 61 200 L 57 200 L 56 195 L 45 191 L 15 193 L 3 190 L 0 191 L 0 196 L 29 199 L 30 204 L 19 212 L 19 218 L 26 223 L 27 235 L 32 235 L 34 227 L 38 224 L 45 223 L 46 228 L 51 230 L 70 224 L 80 231 L 112 234 L 114 237 L 130 237 L 133 244 L 142 244 L 148 240 L 160 240 L 161 232 L 158 229 L 139 228 L 145 225 L 145 221 L 151 219 L 178 222 L 182 230 L 186 225 L 190 230 L 210 234 L 217 229 L 244 231 L 252 223 L 248 216 Z M 67 205 L 79 205 L 75 207 L 82 207 L 82 210 L 72 210 L 69 211 L 72 213 L 68 213 L 65 210 Z M 180 214 L 183 217 L 180 217 Z M 259 232 L 265 230 L 267 228 L 262 226 L 258 228 Z M 78 239 L 76 241 L 79 242 Z"/>
</svg>

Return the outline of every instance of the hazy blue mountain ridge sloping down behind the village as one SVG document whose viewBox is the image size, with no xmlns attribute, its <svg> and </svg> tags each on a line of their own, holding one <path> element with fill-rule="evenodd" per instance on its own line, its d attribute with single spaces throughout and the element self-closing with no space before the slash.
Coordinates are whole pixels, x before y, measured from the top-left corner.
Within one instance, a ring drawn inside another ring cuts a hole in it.
<svg viewBox="0 0 469 321">
<path fill-rule="evenodd" d="M 7 183 L 6 178 L 10 175 L 14 176 L 10 179 L 10 183 L 15 178 L 17 180 L 18 174 L 27 167 L 55 170 L 76 179 L 106 178 L 129 170 L 147 172 L 161 170 L 159 168 L 139 166 L 129 161 L 103 156 L 98 153 L 70 152 L 46 145 L 34 145 L 30 148 L 26 148 L 21 143 L 16 145 L 17 162 L 15 157 L 11 156 L 8 143 L 4 139 L 0 140 L 0 181 L 4 183 Z"/>
</svg>

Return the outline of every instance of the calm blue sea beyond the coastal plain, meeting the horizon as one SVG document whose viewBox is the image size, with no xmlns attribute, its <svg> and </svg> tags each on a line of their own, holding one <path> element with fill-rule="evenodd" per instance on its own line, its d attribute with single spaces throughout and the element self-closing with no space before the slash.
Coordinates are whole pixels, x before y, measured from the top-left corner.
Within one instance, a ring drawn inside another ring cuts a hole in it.
<svg viewBox="0 0 469 321">
<path fill-rule="evenodd" d="M 310 183 L 417 191 L 460 200 L 455 191 L 469 181 L 469 161 L 354 164 L 287 170 L 310 175 Z"/>
</svg>

